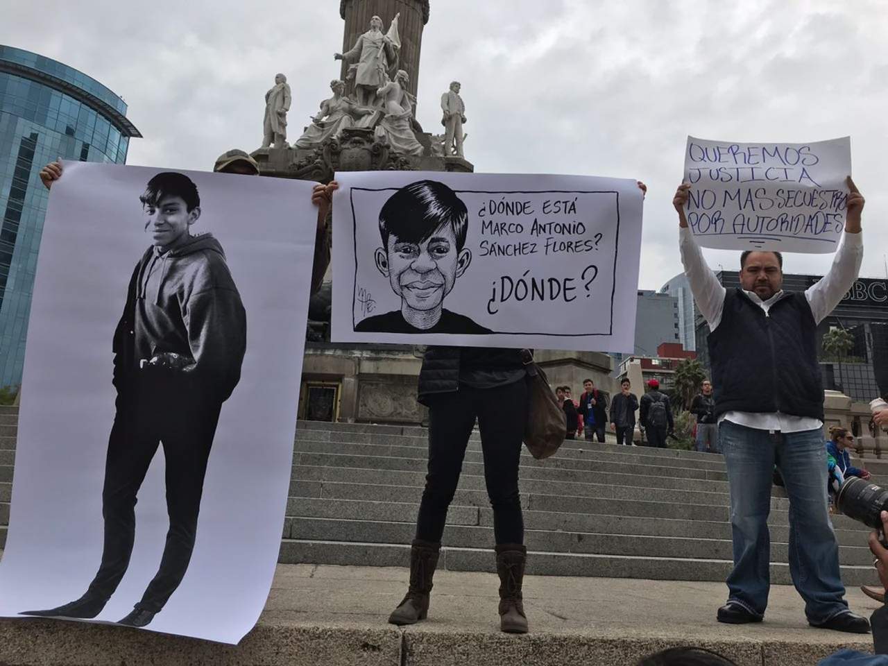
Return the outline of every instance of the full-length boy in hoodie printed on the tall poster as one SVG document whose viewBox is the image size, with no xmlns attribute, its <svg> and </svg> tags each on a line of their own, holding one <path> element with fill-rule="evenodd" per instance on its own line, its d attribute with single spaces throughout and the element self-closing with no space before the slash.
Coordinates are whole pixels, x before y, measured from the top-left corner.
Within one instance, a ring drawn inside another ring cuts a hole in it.
<svg viewBox="0 0 888 666">
<path fill-rule="evenodd" d="M 120 623 L 151 622 L 182 582 L 194 550 L 219 412 L 241 377 L 246 315 L 222 246 L 211 234 L 191 234 L 201 218 L 194 182 L 159 173 L 139 202 L 152 244 L 132 272 L 114 333 L 117 397 L 102 488 L 101 564 L 80 599 L 25 614 L 101 612 L 129 566 L 137 494 L 161 445 L 170 528 L 157 574 Z"/>
</svg>

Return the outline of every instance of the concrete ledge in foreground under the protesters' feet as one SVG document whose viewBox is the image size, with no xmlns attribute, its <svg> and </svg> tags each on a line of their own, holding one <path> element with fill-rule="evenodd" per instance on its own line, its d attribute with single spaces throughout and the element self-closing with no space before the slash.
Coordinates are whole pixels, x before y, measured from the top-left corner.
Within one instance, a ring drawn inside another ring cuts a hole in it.
<svg viewBox="0 0 888 666">
<path fill-rule="evenodd" d="M 4 666 L 631 666 L 673 646 L 703 646 L 741 666 L 812 666 L 843 647 L 872 651 L 870 636 L 816 630 L 791 587 L 773 586 L 765 622 L 715 620 L 721 583 L 527 576 L 531 633 L 498 630 L 496 575 L 441 570 L 429 620 L 385 623 L 407 568 L 282 565 L 257 627 L 222 646 L 123 627 L 54 620 L 0 620 Z M 852 610 L 876 602 L 850 590 Z"/>
</svg>

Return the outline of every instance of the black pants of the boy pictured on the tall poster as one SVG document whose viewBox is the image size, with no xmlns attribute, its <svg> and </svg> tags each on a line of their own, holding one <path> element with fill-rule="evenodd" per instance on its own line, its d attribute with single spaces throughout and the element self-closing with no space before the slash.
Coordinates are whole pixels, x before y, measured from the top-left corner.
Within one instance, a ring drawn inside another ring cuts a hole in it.
<svg viewBox="0 0 888 666">
<path fill-rule="evenodd" d="M 89 588 L 91 595 L 108 599 L 126 573 L 136 532 L 136 495 L 163 444 L 170 529 L 157 574 L 136 604 L 155 613 L 176 591 L 191 561 L 203 477 L 222 407 L 193 386 L 171 382 L 165 372 L 141 373 L 118 400 L 102 488 L 105 543 Z"/>
</svg>

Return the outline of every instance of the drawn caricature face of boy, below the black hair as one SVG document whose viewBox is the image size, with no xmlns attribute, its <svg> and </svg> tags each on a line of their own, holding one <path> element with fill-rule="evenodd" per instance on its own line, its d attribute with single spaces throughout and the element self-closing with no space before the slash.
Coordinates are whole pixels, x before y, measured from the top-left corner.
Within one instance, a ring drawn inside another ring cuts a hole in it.
<svg viewBox="0 0 888 666">
<path fill-rule="evenodd" d="M 472 252 L 456 250 L 456 236 L 447 224 L 419 243 L 400 241 L 391 234 L 388 247 L 377 248 L 375 258 L 379 272 L 389 279 L 402 305 L 433 310 L 453 289 L 456 278 L 465 273 Z"/>
</svg>

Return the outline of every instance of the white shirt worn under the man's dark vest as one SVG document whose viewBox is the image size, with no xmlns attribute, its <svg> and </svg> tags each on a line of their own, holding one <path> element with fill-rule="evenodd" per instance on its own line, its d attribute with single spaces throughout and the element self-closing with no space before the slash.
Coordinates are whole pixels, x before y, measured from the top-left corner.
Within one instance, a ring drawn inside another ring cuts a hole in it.
<svg viewBox="0 0 888 666">
<path fill-rule="evenodd" d="M 722 311 L 725 308 L 725 288 L 712 273 L 700 246 L 694 240 L 694 234 L 687 227 L 678 228 L 678 247 L 681 250 L 681 263 L 685 266 L 685 275 L 690 284 L 694 301 L 700 313 L 710 325 L 710 331 L 718 328 Z M 851 289 L 857 275 L 860 272 L 860 262 L 863 260 L 862 234 L 844 234 L 843 242 L 836 251 L 833 265 L 829 273 L 823 279 L 805 290 L 805 298 L 811 305 L 814 315 L 814 323 L 819 324 L 833 311 L 842 297 Z M 783 292 L 778 291 L 772 297 L 763 301 L 752 291 L 745 291 L 753 303 L 759 305 L 765 311 L 765 315 L 776 303 Z M 817 430 L 823 427 L 820 419 L 810 416 L 792 416 L 782 412 L 757 413 L 731 411 L 722 415 L 723 419 L 746 426 L 770 432 L 802 432 Z M 721 420 L 721 419 L 719 419 Z"/>
</svg>

